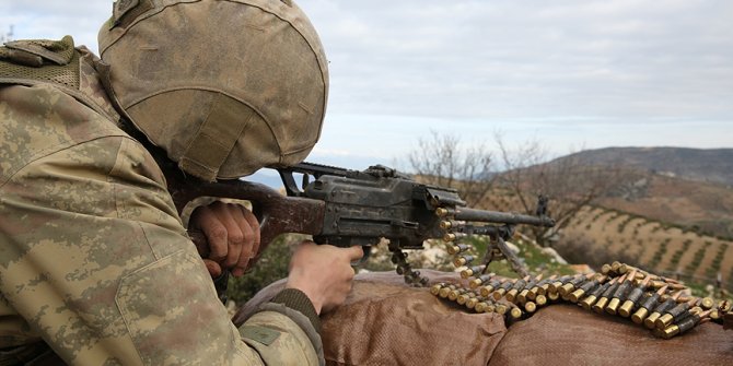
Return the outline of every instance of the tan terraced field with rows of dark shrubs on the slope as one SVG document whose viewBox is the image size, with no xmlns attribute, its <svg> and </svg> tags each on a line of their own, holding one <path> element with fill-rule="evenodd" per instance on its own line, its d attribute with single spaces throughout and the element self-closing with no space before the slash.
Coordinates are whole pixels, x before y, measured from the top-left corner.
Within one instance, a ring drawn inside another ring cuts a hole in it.
<svg viewBox="0 0 733 366">
<path fill-rule="evenodd" d="M 556 249 L 574 262 L 621 260 L 643 269 L 733 291 L 733 241 L 644 217 L 586 206 Z M 605 251 L 605 253 L 603 252 Z"/>
</svg>

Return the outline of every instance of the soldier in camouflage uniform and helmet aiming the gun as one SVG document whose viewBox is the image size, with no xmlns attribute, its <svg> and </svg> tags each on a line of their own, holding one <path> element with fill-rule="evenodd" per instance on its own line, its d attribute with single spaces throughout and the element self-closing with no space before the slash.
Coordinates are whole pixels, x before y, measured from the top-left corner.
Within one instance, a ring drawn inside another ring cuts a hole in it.
<svg viewBox="0 0 733 366">
<path fill-rule="evenodd" d="M 328 88 L 310 21 L 289 0 L 118 0 L 100 51 L 0 48 L 0 364 L 323 364 L 317 315 L 361 249 L 303 244 L 236 329 L 210 273 L 243 274 L 257 219 L 197 210 L 205 264 L 150 153 L 203 180 L 305 158 Z"/>
</svg>

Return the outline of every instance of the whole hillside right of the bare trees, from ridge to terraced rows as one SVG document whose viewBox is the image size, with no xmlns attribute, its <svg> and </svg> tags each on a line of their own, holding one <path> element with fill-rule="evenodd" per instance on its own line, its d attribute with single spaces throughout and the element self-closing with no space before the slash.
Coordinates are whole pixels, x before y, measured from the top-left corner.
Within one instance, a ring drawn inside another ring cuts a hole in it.
<svg viewBox="0 0 733 366">
<path fill-rule="evenodd" d="M 549 164 L 563 160 L 627 177 L 562 231 L 556 248 L 563 257 L 591 265 L 621 260 L 733 290 L 733 149 L 609 147 Z"/>
</svg>

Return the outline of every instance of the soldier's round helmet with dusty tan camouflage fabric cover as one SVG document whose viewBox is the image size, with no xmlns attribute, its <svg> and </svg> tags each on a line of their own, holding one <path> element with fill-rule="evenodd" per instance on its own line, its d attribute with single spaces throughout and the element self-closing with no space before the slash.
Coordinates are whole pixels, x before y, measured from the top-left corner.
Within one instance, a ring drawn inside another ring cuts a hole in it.
<svg viewBox="0 0 733 366">
<path fill-rule="evenodd" d="M 113 102 L 190 175 L 298 164 L 319 138 L 327 61 L 290 0 L 117 0 L 98 39 Z"/>
</svg>

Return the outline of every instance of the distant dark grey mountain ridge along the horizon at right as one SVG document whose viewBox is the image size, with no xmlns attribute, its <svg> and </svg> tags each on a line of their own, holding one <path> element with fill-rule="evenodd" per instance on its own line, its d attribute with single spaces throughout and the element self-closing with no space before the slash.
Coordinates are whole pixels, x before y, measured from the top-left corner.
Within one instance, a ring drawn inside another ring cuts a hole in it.
<svg viewBox="0 0 733 366">
<path fill-rule="evenodd" d="M 619 165 L 688 180 L 733 186 L 733 149 L 606 147 L 557 158 L 582 165 Z"/>
</svg>

